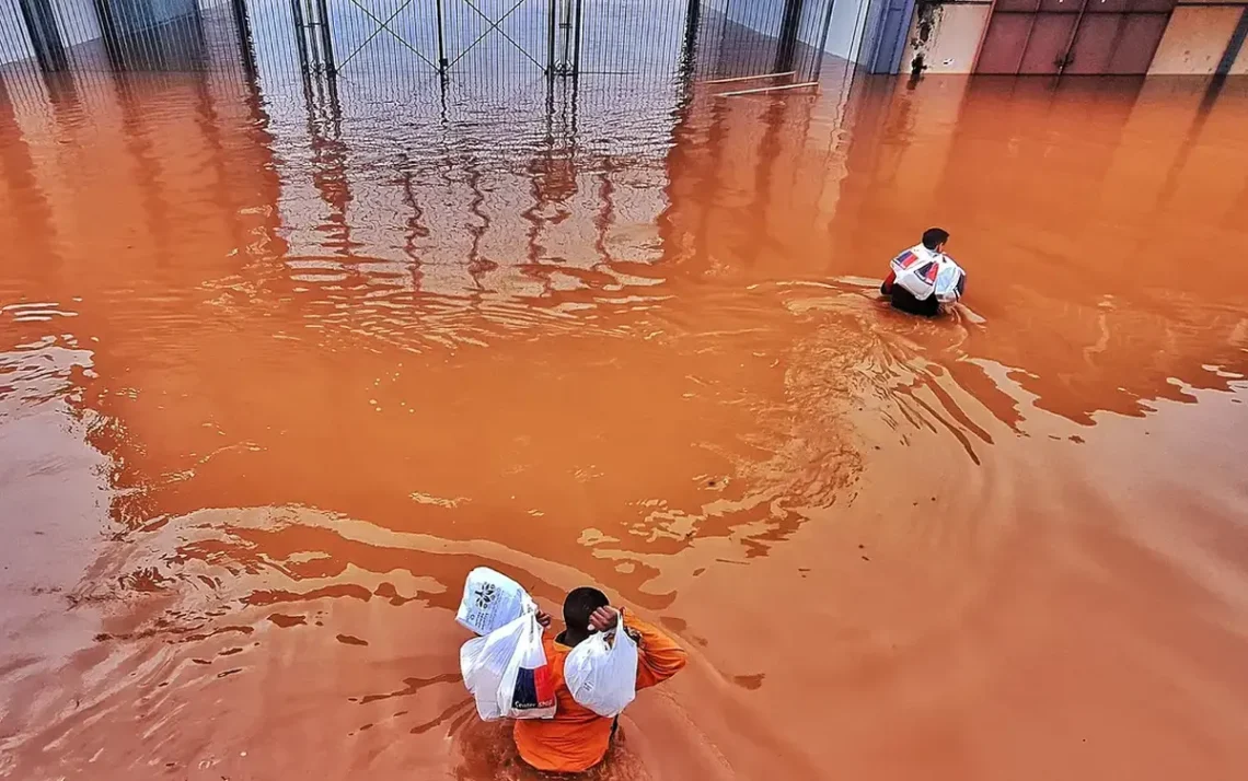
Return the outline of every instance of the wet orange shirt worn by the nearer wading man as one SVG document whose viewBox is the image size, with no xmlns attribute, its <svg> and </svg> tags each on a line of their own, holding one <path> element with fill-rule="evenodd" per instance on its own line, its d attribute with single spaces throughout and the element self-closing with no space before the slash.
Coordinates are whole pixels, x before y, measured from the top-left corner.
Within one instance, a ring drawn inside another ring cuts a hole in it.
<svg viewBox="0 0 1248 781">
<path fill-rule="evenodd" d="M 636 654 L 636 687 L 645 689 L 668 680 L 685 666 L 688 657 L 675 640 L 631 613 L 624 613 L 624 625 L 641 635 Z M 547 662 L 554 679 L 554 719 L 520 719 L 515 722 L 515 747 L 520 757 L 549 772 L 580 772 L 603 761 L 612 740 L 612 719 L 599 716 L 572 699 L 563 679 L 563 662 L 572 650 L 550 633 L 542 635 Z"/>
</svg>

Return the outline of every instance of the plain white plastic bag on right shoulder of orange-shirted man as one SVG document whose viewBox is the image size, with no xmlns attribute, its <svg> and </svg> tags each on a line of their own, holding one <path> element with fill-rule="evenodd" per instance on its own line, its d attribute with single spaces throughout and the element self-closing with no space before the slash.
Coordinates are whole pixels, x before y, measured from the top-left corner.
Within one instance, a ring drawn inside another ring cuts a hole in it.
<svg viewBox="0 0 1248 781">
<path fill-rule="evenodd" d="M 608 635 L 614 634 L 614 641 Z M 572 699 L 612 719 L 636 697 L 636 643 L 624 631 L 624 611 L 613 633 L 582 640 L 563 662 Z"/>
</svg>

